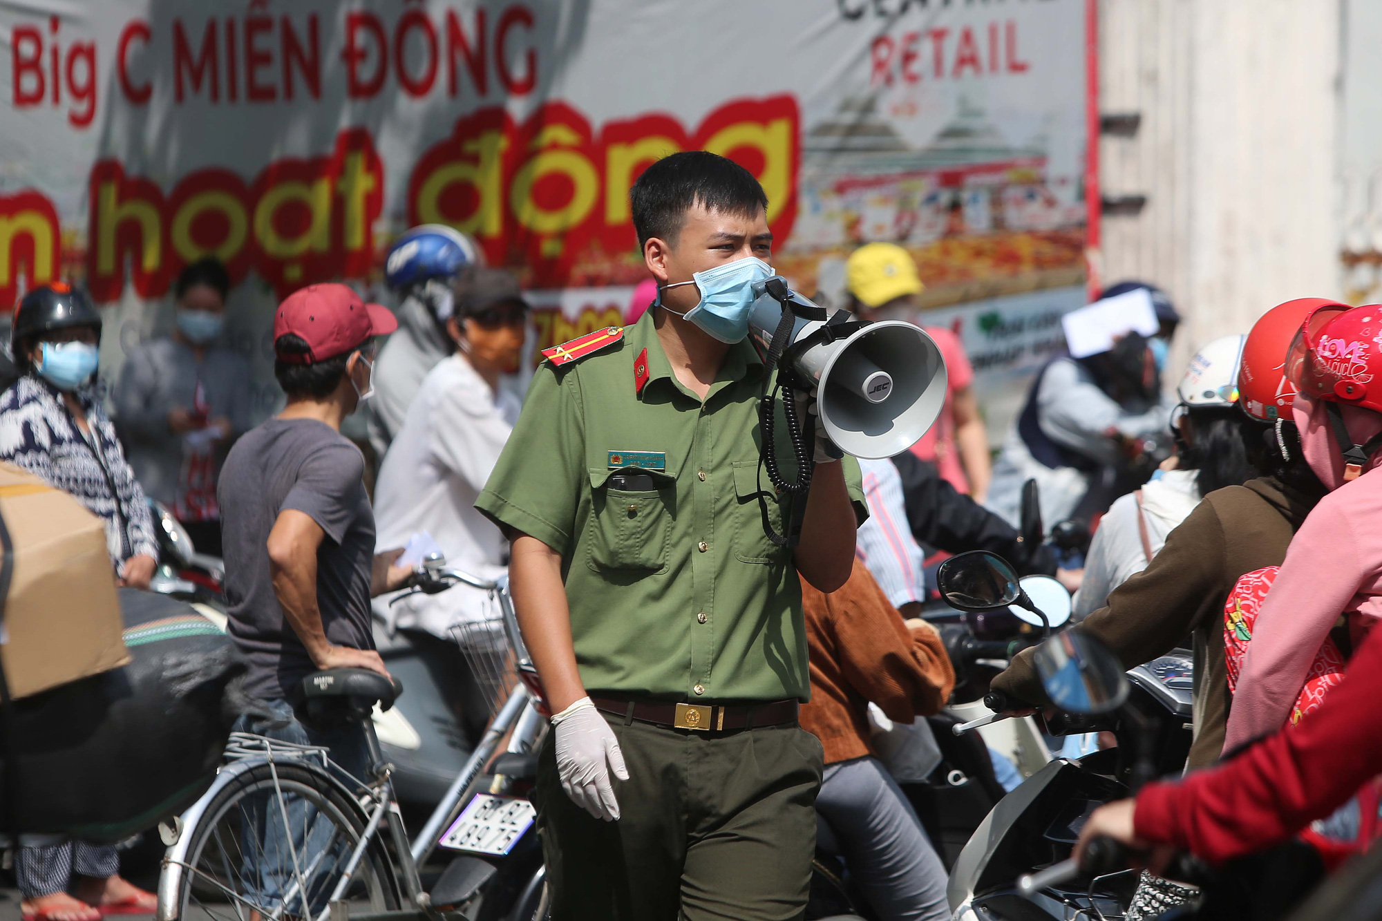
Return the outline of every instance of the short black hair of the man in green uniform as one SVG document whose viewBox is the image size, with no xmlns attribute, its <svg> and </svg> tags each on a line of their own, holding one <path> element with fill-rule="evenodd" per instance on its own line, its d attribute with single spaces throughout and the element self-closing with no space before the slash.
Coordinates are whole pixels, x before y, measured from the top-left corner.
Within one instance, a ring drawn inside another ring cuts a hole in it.
<svg viewBox="0 0 1382 921">
<path fill-rule="evenodd" d="M 650 166 L 629 192 L 638 246 L 656 236 L 676 243 L 685 213 L 695 205 L 726 214 L 767 210 L 768 196 L 748 171 L 727 156 L 683 151 Z"/>
</svg>

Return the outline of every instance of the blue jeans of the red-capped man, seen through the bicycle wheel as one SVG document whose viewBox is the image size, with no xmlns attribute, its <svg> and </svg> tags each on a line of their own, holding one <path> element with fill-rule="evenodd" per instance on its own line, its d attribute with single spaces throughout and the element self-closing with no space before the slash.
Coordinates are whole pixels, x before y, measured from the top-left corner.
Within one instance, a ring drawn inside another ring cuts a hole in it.
<svg viewBox="0 0 1382 921">
<path fill-rule="evenodd" d="M 351 791 L 363 784 L 369 748 L 358 725 L 311 726 L 297 718 L 286 700 L 263 703 L 274 716 L 242 714 L 235 722 L 235 732 L 299 745 L 322 745 L 329 752 L 332 773 L 337 780 Z M 246 896 L 256 896 L 260 906 L 272 909 L 292 891 L 294 897 L 285 913 L 304 914 L 303 895 L 294 889 L 297 873 L 301 871 L 308 902 L 305 914 L 321 913 L 336 885 L 337 864 L 350 859 L 351 842 L 341 835 L 336 835 L 333 841 L 332 831 L 336 826 L 296 795 L 286 794 L 282 803 L 275 795 L 256 795 L 240 813 L 240 823 L 245 842 L 240 873 L 246 882 Z M 330 853 L 323 856 L 328 849 Z"/>
</svg>

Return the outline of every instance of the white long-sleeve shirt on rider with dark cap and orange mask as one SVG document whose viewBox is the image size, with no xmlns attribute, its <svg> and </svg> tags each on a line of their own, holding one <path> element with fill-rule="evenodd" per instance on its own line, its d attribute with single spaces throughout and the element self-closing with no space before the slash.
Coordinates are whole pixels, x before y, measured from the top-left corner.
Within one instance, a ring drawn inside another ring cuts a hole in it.
<svg viewBox="0 0 1382 921">
<path fill-rule="evenodd" d="M 446 555 L 448 568 L 496 578 L 507 564 L 509 542 L 475 499 L 489 478 L 521 401 L 496 394 L 464 355 L 444 358 L 423 378 L 404 427 L 384 456 L 375 487 L 379 550 L 405 546 L 428 532 Z M 392 606 L 397 626 L 415 626 L 451 639 L 462 621 L 496 617 L 484 592 L 457 585 L 439 595 L 412 595 Z"/>
</svg>

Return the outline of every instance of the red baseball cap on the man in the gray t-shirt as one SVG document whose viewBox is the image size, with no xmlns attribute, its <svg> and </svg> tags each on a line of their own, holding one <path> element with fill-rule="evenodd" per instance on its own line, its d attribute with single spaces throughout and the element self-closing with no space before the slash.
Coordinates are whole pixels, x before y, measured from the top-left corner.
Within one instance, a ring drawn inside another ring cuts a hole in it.
<svg viewBox="0 0 1382 921">
<path fill-rule="evenodd" d="M 372 336 L 387 336 L 398 321 L 387 307 L 366 304 L 348 285 L 308 285 L 278 306 L 274 342 L 293 333 L 308 346 L 307 354 L 279 354 L 279 361 L 311 365 L 344 355 Z"/>
</svg>

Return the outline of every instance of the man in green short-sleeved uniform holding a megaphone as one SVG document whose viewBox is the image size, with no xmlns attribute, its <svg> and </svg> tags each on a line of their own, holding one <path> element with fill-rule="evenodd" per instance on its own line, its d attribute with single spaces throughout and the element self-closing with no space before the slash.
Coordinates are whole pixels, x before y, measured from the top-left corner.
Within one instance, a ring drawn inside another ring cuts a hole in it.
<svg viewBox="0 0 1382 921">
<path fill-rule="evenodd" d="M 535 797 L 553 918 L 799 918 L 822 754 L 796 719 L 797 573 L 824 592 L 849 578 L 858 467 L 818 433 L 800 543 L 768 539 L 763 362 L 745 339 L 749 286 L 771 275 L 767 198 L 697 151 L 648 167 L 632 199 L 659 303 L 543 353 L 475 503 L 513 538 L 556 714 Z M 768 490 L 784 532 L 791 503 Z"/>
</svg>

